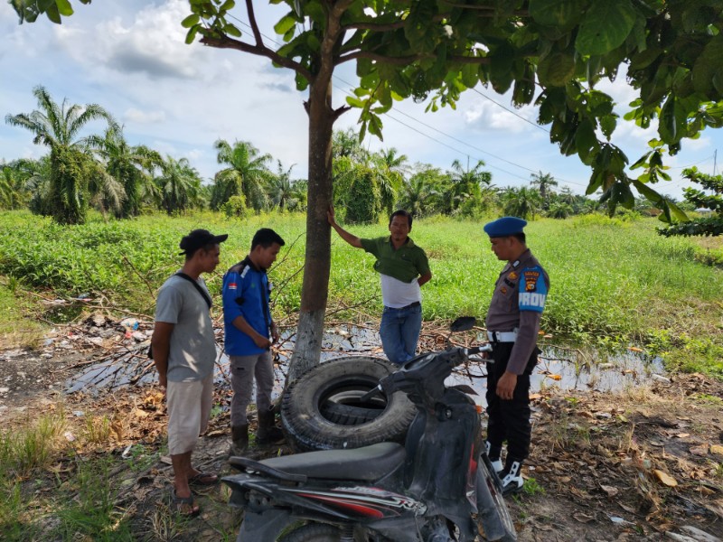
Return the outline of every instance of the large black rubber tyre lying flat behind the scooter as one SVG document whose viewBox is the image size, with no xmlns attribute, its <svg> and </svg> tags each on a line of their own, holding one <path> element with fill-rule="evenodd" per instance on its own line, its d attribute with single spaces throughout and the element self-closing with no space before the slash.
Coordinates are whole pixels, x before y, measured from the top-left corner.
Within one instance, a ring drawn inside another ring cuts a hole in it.
<svg viewBox="0 0 723 542">
<path fill-rule="evenodd" d="M 404 443 L 417 414 L 407 395 L 381 394 L 354 403 L 397 366 L 354 356 L 329 360 L 291 384 L 281 400 L 281 425 L 296 452 L 359 448 L 381 442 Z M 335 399 L 342 397 L 337 402 Z"/>
</svg>

